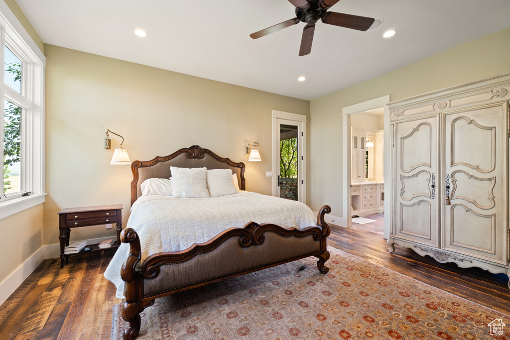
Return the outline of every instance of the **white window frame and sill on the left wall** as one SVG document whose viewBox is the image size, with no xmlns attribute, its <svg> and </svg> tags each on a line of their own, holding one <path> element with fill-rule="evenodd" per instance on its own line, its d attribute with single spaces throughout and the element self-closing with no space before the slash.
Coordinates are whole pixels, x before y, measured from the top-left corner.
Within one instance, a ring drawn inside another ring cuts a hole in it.
<svg viewBox="0 0 510 340">
<path fill-rule="evenodd" d="M 0 64 L 5 65 L 5 46 L 21 64 L 21 94 L 5 84 L 0 72 L 0 109 L 4 99 L 21 108 L 21 189 L 30 192 L 2 195 L 0 219 L 44 203 L 44 71 L 46 58 L 5 2 L 0 2 Z M 2 127 L 3 130 L 3 127 Z M 2 152 L 3 153 L 3 152 Z M 2 191 L 3 194 L 3 191 Z"/>
</svg>

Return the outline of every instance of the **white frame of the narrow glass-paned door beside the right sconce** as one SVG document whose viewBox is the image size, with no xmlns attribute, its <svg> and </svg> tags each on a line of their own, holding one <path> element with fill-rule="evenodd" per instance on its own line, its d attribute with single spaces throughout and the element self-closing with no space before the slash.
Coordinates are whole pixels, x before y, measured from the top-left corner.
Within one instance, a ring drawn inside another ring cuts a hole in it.
<svg viewBox="0 0 510 340">
<path fill-rule="evenodd" d="M 298 185 L 298 197 L 299 201 L 307 204 L 307 184 L 304 182 L 307 178 L 307 116 L 298 115 L 295 113 L 284 112 L 273 110 L 272 114 L 272 192 L 273 196 L 280 197 L 279 187 L 276 184 L 275 178 L 278 178 L 278 174 L 280 173 L 280 160 L 279 160 L 279 151 L 280 151 L 280 139 L 279 139 L 279 131 L 277 128 L 278 119 L 292 120 L 296 122 L 298 126 L 298 138 L 297 138 L 297 158 L 298 161 L 300 158 L 302 160 L 301 163 L 298 162 L 298 171 L 297 171 L 297 185 Z M 302 132 L 302 137 L 299 138 L 299 132 Z"/>
</svg>

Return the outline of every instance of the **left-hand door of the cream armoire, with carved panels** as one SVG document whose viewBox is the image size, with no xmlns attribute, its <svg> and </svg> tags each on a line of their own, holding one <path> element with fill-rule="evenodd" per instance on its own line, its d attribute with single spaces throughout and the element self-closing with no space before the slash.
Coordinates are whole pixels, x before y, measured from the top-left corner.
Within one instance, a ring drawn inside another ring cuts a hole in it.
<svg viewBox="0 0 510 340">
<path fill-rule="evenodd" d="M 439 246 L 439 116 L 395 123 L 394 234 Z"/>
</svg>

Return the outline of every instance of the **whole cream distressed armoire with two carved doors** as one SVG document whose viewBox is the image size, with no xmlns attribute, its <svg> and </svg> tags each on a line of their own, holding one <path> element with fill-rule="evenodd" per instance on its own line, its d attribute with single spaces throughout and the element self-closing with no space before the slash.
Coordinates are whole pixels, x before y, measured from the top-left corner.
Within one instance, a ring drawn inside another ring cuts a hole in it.
<svg viewBox="0 0 510 340">
<path fill-rule="evenodd" d="M 396 244 L 510 278 L 509 90 L 510 72 L 387 105 L 390 252 Z"/>
</svg>

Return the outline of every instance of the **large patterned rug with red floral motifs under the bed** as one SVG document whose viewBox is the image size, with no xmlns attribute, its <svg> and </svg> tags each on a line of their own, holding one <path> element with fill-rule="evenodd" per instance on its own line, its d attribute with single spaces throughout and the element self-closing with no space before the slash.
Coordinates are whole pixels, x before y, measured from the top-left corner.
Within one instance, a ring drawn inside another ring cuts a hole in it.
<svg viewBox="0 0 510 340">
<path fill-rule="evenodd" d="M 510 339 L 501 312 L 328 250 L 326 275 L 308 257 L 157 299 L 141 314 L 138 338 Z M 113 315 L 117 340 L 126 327 L 119 305 Z"/>
</svg>

